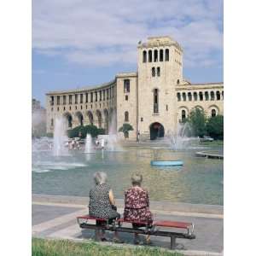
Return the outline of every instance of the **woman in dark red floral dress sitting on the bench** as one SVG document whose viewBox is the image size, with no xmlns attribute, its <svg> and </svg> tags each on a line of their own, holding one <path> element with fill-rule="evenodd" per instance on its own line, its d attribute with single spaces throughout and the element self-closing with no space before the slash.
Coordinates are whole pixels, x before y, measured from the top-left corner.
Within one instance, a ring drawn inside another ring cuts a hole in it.
<svg viewBox="0 0 256 256">
<path fill-rule="evenodd" d="M 132 222 L 147 222 L 148 225 L 153 223 L 153 215 L 149 211 L 149 198 L 148 192 L 141 187 L 143 182 L 143 176 L 140 174 L 134 174 L 131 177 L 132 187 L 125 191 L 125 220 Z M 134 228 L 140 228 L 145 226 L 144 224 L 132 224 Z M 150 242 L 149 236 L 147 236 L 147 243 Z M 139 236 L 135 233 L 134 242 L 136 244 L 141 243 Z"/>
</svg>

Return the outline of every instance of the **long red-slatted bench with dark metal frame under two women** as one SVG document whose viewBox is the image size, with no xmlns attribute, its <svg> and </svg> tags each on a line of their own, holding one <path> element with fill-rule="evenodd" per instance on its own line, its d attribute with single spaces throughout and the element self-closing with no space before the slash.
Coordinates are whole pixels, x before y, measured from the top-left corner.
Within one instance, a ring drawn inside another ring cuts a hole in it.
<svg viewBox="0 0 256 256">
<path fill-rule="evenodd" d="M 89 223 L 90 220 L 95 221 L 93 224 Z M 105 225 L 96 225 L 96 221 L 104 221 Z M 118 218 L 113 220 L 112 224 L 108 223 L 108 219 L 105 218 L 94 218 L 89 215 L 77 217 L 79 227 L 81 229 L 90 229 L 90 230 L 108 230 L 108 231 L 118 231 L 125 233 L 137 233 L 142 235 L 149 236 L 167 236 L 171 238 L 171 249 L 176 247 L 176 239 L 195 239 L 194 235 L 194 224 L 186 222 L 177 222 L 177 221 L 167 221 L 167 220 L 158 220 L 154 221 L 153 224 L 148 225 L 146 222 L 131 222 L 127 221 L 124 218 Z M 124 227 L 124 223 L 129 224 L 143 224 L 143 228 L 133 228 L 133 227 Z M 161 230 L 165 228 L 167 230 Z M 174 229 L 174 230 L 173 230 Z"/>
</svg>

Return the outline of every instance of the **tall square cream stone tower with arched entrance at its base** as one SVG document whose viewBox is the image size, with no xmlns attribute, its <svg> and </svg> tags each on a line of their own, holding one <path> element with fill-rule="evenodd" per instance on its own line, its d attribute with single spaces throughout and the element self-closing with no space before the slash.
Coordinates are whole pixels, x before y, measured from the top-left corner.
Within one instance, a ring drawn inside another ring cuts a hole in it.
<svg viewBox="0 0 256 256">
<path fill-rule="evenodd" d="M 148 139 L 176 133 L 176 85 L 183 82 L 183 50 L 170 37 L 148 38 L 137 49 L 137 129 Z"/>
</svg>

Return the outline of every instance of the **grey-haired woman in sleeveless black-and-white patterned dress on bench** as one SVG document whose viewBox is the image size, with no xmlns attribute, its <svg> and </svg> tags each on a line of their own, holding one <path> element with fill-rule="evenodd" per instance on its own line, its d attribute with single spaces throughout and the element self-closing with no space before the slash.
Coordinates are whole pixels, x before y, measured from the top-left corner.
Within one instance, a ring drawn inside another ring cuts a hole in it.
<svg viewBox="0 0 256 256">
<path fill-rule="evenodd" d="M 113 219 L 120 218 L 119 212 L 116 211 L 113 191 L 107 182 L 107 174 L 105 172 L 96 172 L 94 174 L 94 180 L 96 186 L 90 189 L 90 201 L 89 201 L 89 214 L 95 218 L 106 218 L 108 223 L 111 224 Z M 106 221 L 96 221 L 98 225 L 106 224 Z M 96 230 L 96 238 L 100 236 L 99 231 Z M 105 238 L 105 232 L 102 230 L 102 241 L 107 241 Z M 113 241 L 121 242 L 118 233 L 114 233 Z"/>
</svg>

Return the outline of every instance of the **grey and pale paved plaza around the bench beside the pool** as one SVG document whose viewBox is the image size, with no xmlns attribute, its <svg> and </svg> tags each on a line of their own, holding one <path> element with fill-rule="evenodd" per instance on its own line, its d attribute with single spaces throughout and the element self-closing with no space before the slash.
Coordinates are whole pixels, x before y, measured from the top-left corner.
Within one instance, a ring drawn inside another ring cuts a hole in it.
<svg viewBox="0 0 256 256">
<path fill-rule="evenodd" d="M 93 230 L 81 230 L 76 217 L 88 213 L 88 197 L 63 195 L 32 195 L 32 236 L 89 241 Z M 123 200 L 116 200 L 123 212 Z M 152 201 L 154 218 L 193 222 L 195 240 L 177 239 L 184 246 L 184 255 L 223 255 L 223 207 Z M 132 246 L 132 235 L 120 233 L 125 246 Z M 109 238 L 111 233 L 107 233 Z M 168 249 L 169 237 L 151 236 L 153 246 Z M 108 243 L 111 244 L 111 243 Z M 116 246 L 116 245 L 115 245 Z"/>
</svg>

